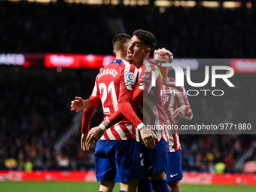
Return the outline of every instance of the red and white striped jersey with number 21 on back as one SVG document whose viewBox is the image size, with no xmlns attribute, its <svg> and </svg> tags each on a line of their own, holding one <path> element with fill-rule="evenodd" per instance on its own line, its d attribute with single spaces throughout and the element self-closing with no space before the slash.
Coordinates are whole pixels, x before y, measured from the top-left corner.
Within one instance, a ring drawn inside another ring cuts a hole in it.
<svg viewBox="0 0 256 192">
<path fill-rule="evenodd" d="M 108 66 L 105 66 L 102 72 L 96 77 L 92 96 L 100 96 L 104 114 L 103 120 L 107 120 L 118 109 L 117 99 L 120 93 L 120 66 L 127 64 L 130 65 L 128 62 L 115 59 Z M 134 70 L 132 71 L 134 72 Z M 131 86 L 134 84 L 134 79 L 136 78 L 133 72 L 130 72 L 130 79 L 127 82 Z M 136 136 L 137 134 L 138 136 Z M 130 138 L 136 139 L 139 142 L 139 133 L 136 133 L 136 127 L 126 118 L 111 126 L 101 137 L 102 140 L 126 140 Z"/>
</svg>

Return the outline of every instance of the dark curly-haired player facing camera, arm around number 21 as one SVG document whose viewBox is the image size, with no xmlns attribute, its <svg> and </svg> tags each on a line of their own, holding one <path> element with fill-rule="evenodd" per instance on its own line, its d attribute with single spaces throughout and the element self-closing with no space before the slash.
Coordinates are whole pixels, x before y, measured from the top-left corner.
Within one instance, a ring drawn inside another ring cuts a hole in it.
<svg viewBox="0 0 256 192">
<path fill-rule="evenodd" d="M 147 126 L 166 125 L 163 96 L 160 96 L 160 90 L 163 90 L 163 81 L 160 74 L 154 73 L 156 74 L 157 84 L 155 87 L 152 86 L 151 81 L 148 81 L 151 78 L 145 81 L 145 77 L 151 77 L 152 72 L 156 72 L 156 66 L 146 59 L 156 43 L 156 38 L 151 32 L 143 31 L 142 29 L 133 32 L 133 38 L 130 41 L 126 57 L 130 63 L 121 66 L 119 109 L 108 120 L 90 130 L 86 143 L 88 147 L 96 143 L 104 131 L 112 124 L 117 123 L 120 120 L 120 114 L 123 114 L 133 122 L 133 125 L 137 128 L 136 130 L 139 130 L 147 147 L 144 148 L 145 170 L 148 176 L 151 177 L 154 190 L 156 192 L 168 192 L 169 188 L 166 183 L 168 133 L 163 129 L 155 130 L 154 132 L 148 130 L 133 111 L 135 109 L 134 106 L 141 104 L 141 110 L 137 110 L 137 114 L 142 114 L 143 122 Z M 131 71 L 130 66 L 136 66 L 136 69 L 139 69 L 138 79 L 136 78 L 136 70 Z M 135 102 L 136 104 L 131 105 L 130 102 Z"/>
</svg>

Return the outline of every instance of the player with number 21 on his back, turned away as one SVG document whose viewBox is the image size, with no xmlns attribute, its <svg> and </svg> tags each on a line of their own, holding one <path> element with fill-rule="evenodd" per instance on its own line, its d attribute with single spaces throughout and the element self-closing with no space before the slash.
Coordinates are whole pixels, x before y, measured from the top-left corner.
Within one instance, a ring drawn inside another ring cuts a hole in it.
<svg viewBox="0 0 256 192">
<path fill-rule="evenodd" d="M 72 111 L 81 111 L 84 108 L 98 108 L 102 105 L 104 120 L 108 119 L 114 111 L 117 111 L 117 99 L 120 94 L 120 66 L 130 66 L 125 61 L 127 47 L 130 44 L 130 36 L 116 35 L 113 39 L 116 59 L 105 66 L 97 75 L 92 96 L 93 102 L 76 97 L 72 101 Z M 131 71 L 136 71 L 130 66 Z M 136 74 L 127 84 L 134 84 Z M 90 106 L 91 104 L 91 106 Z M 82 123 L 81 148 L 85 150 L 85 141 L 89 131 L 89 123 L 93 109 L 85 109 Z M 88 149 L 87 145 L 87 149 Z M 97 181 L 101 181 L 99 191 L 110 192 L 114 183 L 120 182 L 120 191 L 135 192 L 139 184 L 139 178 L 144 177 L 144 167 L 141 166 L 142 158 L 139 132 L 130 120 L 122 118 L 114 123 L 102 135 L 95 149 L 95 167 Z"/>
</svg>

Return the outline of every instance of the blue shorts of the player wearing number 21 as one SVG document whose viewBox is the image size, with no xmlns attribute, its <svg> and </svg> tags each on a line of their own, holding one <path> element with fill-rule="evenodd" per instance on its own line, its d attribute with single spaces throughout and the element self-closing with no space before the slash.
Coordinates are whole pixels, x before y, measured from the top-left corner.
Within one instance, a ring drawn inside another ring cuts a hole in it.
<svg viewBox="0 0 256 192">
<path fill-rule="evenodd" d="M 94 157 L 97 181 L 127 182 L 145 176 L 142 148 L 134 139 L 99 140 Z"/>
</svg>

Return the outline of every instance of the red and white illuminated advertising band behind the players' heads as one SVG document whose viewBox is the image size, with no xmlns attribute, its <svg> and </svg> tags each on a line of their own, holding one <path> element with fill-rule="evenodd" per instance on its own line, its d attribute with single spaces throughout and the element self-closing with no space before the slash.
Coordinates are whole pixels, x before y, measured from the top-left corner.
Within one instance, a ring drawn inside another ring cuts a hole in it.
<svg viewBox="0 0 256 192">
<path fill-rule="evenodd" d="M 0 53 L 0 65 L 46 68 L 100 69 L 115 56 L 72 53 Z M 149 57 L 152 59 L 152 57 Z M 173 59 L 182 70 L 205 72 L 207 66 L 230 66 L 235 73 L 255 73 L 256 59 Z M 208 70 L 208 69 L 207 69 Z M 187 75 L 187 74 L 185 74 Z"/>
</svg>

